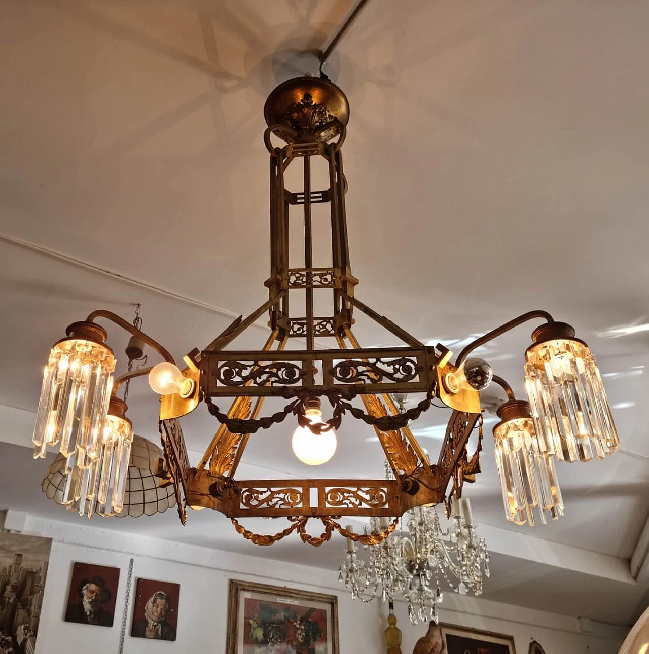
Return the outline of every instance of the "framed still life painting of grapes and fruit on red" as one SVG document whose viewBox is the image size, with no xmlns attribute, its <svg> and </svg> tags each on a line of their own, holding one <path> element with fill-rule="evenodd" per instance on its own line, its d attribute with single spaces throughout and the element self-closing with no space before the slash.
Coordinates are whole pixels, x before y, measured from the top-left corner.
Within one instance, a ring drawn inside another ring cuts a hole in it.
<svg viewBox="0 0 649 654">
<path fill-rule="evenodd" d="M 226 654 L 339 654 L 338 598 L 230 579 Z"/>
</svg>

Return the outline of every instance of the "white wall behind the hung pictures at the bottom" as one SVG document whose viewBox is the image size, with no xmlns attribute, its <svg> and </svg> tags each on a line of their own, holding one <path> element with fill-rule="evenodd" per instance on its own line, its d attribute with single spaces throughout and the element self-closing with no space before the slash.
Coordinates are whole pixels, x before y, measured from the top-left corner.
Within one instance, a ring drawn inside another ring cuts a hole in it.
<svg viewBox="0 0 649 654">
<path fill-rule="evenodd" d="M 224 553 L 162 541 L 135 534 L 103 530 L 96 526 L 71 525 L 27 517 L 24 533 L 53 539 L 43 612 L 39 625 L 37 654 L 82 651 L 90 645 L 92 654 L 118 651 L 120 623 L 129 560 L 134 559 L 133 581 L 137 577 L 162 579 L 181 584 L 178 639 L 156 644 L 156 651 L 197 651 L 222 654 L 225 650 L 228 579 L 248 579 L 273 585 L 311 589 L 338 595 L 340 654 L 382 654 L 385 606 L 381 602 L 361 604 L 341 590 L 337 574 L 259 557 Z M 307 545 L 305 545 L 307 547 Z M 89 627 L 63 622 L 67 586 L 75 561 L 96 562 L 121 568 L 120 587 L 113 628 Z M 533 592 L 533 591 L 531 591 Z M 546 654 L 616 654 L 625 630 L 594 625 L 593 634 L 579 634 L 575 618 L 535 611 L 476 598 L 446 593 L 442 621 L 470 625 L 488 631 L 512 634 L 518 654 L 527 654 L 532 638 Z M 132 609 L 132 607 L 131 607 Z M 406 607 L 396 606 L 398 626 L 404 633 L 402 651 L 410 654 L 427 625 L 412 627 Z M 130 624 L 129 611 L 128 624 Z M 151 652 L 150 641 L 126 635 L 126 654 Z"/>
</svg>

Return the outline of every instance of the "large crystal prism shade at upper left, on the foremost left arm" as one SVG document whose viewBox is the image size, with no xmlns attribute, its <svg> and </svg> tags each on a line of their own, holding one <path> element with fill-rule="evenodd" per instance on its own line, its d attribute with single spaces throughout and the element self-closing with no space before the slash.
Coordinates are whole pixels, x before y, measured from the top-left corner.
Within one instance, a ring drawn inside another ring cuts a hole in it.
<svg viewBox="0 0 649 654">
<path fill-rule="evenodd" d="M 115 359 L 105 345 L 66 339 L 52 347 L 43 375 L 32 441 L 34 458 L 59 446 L 82 467 L 97 460 L 113 387 Z"/>
</svg>

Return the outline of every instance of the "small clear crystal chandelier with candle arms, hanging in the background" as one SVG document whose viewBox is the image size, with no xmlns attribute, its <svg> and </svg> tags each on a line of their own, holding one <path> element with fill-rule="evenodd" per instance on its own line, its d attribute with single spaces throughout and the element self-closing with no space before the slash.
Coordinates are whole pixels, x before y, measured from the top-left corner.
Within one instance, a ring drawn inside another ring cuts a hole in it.
<svg viewBox="0 0 649 654">
<path fill-rule="evenodd" d="M 437 605 L 444 599 L 440 583 L 462 595 L 468 591 L 482 594 L 482 576 L 489 576 L 487 544 L 476 534 L 465 498 L 453 502 L 451 525 L 446 530 L 434 507 L 410 509 L 406 521 L 407 531 L 394 532 L 378 545 L 364 547 L 367 560 L 348 539 L 338 580 L 362 602 L 372 602 L 379 594 L 390 602 L 404 599 L 413 625 L 429 619 L 437 623 Z M 385 519 L 370 518 L 367 531 L 379 533 L 385 524 Z"/>
</svg>

